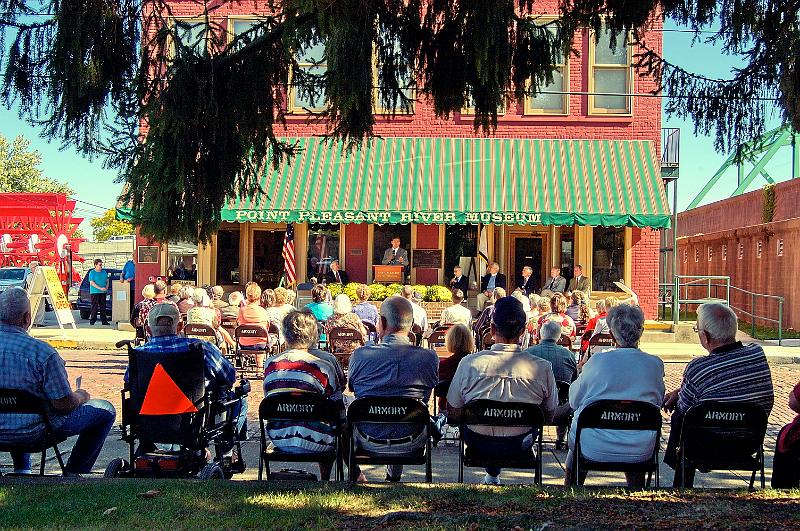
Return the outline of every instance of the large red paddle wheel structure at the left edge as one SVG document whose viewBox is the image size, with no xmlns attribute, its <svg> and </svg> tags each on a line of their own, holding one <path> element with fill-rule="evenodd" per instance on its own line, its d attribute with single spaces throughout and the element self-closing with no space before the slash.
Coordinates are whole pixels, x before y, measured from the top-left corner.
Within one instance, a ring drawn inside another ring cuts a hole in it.
<svg viewBox="0 0 800 531">
<path fill-rule="evenodd" d="M 80 260 L 83 238 L 76 235 L 83 218 L 72 212 L 75 201 L 65 194 L 0 194 L 0 266 L 26 266 L 31 260 L 53 266 L 61 282 L 80 281 L 71 260 Z"/>
</svg>

